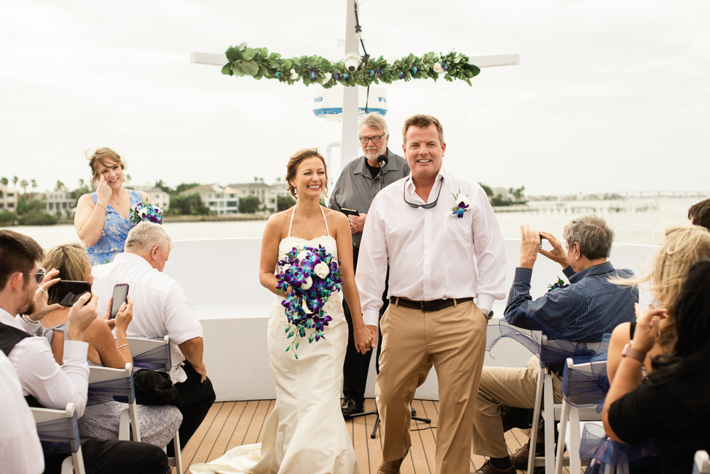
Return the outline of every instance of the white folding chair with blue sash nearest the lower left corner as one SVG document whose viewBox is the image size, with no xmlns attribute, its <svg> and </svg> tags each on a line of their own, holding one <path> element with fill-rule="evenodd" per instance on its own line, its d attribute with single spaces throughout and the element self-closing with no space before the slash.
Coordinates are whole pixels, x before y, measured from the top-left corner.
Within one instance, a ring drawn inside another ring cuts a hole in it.
<svg viewBox="0 0 710 474">
<path fill-rule="evenodd" d="M 62 462 L 62 474 L 85 474 L 75 404 L 67 403 L 65 410 L 48 408 L 31 408 L 31 410 L 42 446 L 55 448 L 62 445 L 72 453 L 72 456 Z"/>
</svg>

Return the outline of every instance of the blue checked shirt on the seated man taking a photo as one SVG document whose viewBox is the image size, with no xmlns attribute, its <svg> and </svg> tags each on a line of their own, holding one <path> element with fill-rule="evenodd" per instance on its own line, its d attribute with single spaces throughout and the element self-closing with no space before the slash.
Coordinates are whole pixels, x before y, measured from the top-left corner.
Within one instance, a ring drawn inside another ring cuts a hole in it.
<svg viewBox="0 0 710 474">
<path fill-rule="evenodd" d="M 606 262 L 578 273 L 571 267 L 562 271 L 569 285 L 533 301 L 530 297 L 532 269 L 515 268 L 506 306 L 508 324 L 522 329 L 539 329 L 530 317 L 532 315 L 569 341 L 599 342 L 603 333 L 611 333 L 618 324 L 636 320 L 633 304 L 638 302 L 638 288 L 608 282 L 610 277 L 633 276 L 631 270 L 615 269 Z"/>
</svg>

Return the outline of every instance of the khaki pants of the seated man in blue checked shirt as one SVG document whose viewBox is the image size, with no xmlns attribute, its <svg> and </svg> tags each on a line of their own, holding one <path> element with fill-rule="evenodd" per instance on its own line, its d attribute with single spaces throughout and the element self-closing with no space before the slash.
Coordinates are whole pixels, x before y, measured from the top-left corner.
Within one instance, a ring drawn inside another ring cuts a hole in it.
<svg viewBox="0 0 710 474">
<path fill-rule="evenodd" d="M 481 373 L 479 393 L 474 410 L 473 450 L 479 456 L 504 458 L 508 456 L 503 420 L 498 402 L 510 407 L 533 408 L 540 359 L 533 355 L 525 368 L 485 367 Z M 552 375 L 552 394 L 555 403 L 562 403 L 562 377 Z M 525 430 L 528 437 L 530 430 Z M 545 439 L 538 431 L 538 441 Z"/>
</svg>

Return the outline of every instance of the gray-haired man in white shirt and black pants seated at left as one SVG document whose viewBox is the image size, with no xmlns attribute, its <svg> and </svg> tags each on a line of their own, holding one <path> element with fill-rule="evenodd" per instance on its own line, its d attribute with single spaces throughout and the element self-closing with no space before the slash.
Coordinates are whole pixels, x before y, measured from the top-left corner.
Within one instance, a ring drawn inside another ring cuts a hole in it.
<svg viewBox="0 0 710 474">
<path fill-rule="evenodd" d="M 162 338 L 170 336 L 175 388 L 182 397 L 180 449 L 185 447 L 214 403 L 212 382 L 202 362 L 202 325 L 182 287 L 163 273 L 173 241 L 163 226 L 141 222 L 129 232 L 125 252 L 114 261 L 93 269 L 92 291 L 105 307 L 114 285 L 129 284 L 133 299 L 133 321 L 129 337 Z M 173 456 L 173 443 L 168 445 Z"/>
</svg>

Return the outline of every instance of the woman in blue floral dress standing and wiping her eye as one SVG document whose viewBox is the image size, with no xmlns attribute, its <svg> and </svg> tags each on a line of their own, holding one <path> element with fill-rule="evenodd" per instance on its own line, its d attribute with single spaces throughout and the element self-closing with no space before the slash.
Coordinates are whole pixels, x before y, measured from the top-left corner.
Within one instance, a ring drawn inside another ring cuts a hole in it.
<svg viewBox="0 0 710 474">
<path fill-rule="evenodd" d="M 87 158 L 96 192 L 79 198 L 74 226 L 87 245 L 91 264 L 102 265 L 124 251 L 126 236 L 136 225 L 131 222 L 131 208 L 139 202 L 151 203 L 151 198 L 124 188 L 126 162 L 111 148 L 97 148 Z"/>
</svg>

